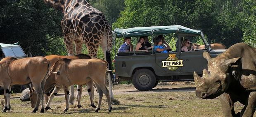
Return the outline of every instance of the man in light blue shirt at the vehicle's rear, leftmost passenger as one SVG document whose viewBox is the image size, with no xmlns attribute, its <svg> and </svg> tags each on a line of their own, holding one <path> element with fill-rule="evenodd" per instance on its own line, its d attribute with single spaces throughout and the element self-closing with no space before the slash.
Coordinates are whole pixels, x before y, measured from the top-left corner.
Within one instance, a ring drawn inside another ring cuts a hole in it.
<svg viewBox="0 0 256 117">
<path fill-rule="evenodd" d="M 133 52 L 133 44 L 131 44 L 130 37 L 124 38 L 123 44 L 118 49 L 118 52 Z"/>
</svg>

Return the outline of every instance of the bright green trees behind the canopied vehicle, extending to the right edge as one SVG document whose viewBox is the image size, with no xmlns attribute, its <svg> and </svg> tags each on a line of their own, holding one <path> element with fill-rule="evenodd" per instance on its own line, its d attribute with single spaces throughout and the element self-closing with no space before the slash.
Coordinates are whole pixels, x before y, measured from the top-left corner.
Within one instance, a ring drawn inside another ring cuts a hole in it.
<svg viewBox="0 0 256 117">
<path fill-rule="evenodd" d="M 125 0 L 125 5 L 113 28 L 179 24 L 203 30 L 209 43 L 255 45 L 255 0 Z"/>
</svg>

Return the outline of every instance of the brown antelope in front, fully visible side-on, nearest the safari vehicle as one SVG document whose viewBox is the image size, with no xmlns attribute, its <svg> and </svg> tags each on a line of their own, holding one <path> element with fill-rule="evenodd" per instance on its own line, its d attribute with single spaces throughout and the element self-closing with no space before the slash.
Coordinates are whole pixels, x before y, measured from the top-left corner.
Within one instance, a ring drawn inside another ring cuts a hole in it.
<svg viewBox="0 0 256 117">
<path fill-rule="evenodd" d="M 53 97 L 59 92 L 61 87 L 64 88 L 66 108 L 64 111 L 69 109 L 69 90 L 70 85 L 84 85 L 85 83 L 92 85 L 95 83 L 97 91 L 99 93 L 99 102 L 95 112 L 100 110 L 101 101 L 103 93 L 107 97 L 107 102 L 109 106 L 109 112 L 111 112 L 111 100 L 109 96 L 109 90 L 105 85 L 105 75 L 108 67 L 108 63 L 100 59 L 60 59 L 55 62 L 52 67 L 53 71 L 58 71 L 60 74 L 50 74 L 46 79 L 45 91 L 50 91 L 50 88 L 55 85 L 55 89 L 50 95 L 50 99 L 45 106 L 45 110 L 50 108 L 50 103 Z M 31 93 L 31 95 L 36 96 L 36 93 Z M 79 95 L 78 95 L 79 96 Z M 35 103 L 32 102 L 31 103 Z"/>
</svg>

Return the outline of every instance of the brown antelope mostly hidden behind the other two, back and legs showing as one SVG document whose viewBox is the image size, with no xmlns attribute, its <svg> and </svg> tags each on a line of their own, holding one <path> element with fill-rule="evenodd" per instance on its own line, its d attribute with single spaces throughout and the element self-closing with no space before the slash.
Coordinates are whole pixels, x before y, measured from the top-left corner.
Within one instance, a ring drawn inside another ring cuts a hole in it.
<svg viewBox="0 0 256 117">
<path fill-rule="evenodd" d="M 45 58 L 50 61 L 51 68 L 52 68 L 53 64 L 57 60 L 62 59 L 62 58 L 68 58 L 71 60 L 75 60 L 75 59 L 90 59 L 91 57 L 89 55 L 79 54 L 79 55 L 75 55 L 75 56 L 48 55 L 48 56 L 45 56 Z M 93 103 L 94 88 L 91 86 L 92 85 L 91 83 L 87 83 L 86 85 L 87 85 L 87 91 L 88 91 L 88 94 L 90 97 L 90 102 L 91 102 L 90 106 L 92 106 L 93 108 L 96 108 L 96 106 Z M 54 86 L 52 86 L 51 89 L 53 89 L 53 87 Z M 77 101 L 78 101 L 77 107 L 82 108 L 82 106 L 81 106 L 82 85 L 77 85 L 77 94 L 79 95 L 79 96 L 77 95 Z M 45 91 L 45 104 L 48 102 L 48 96 L 50 96 L 50 92 Z M 78 98 L 78 97 L 80 97 L 80 98 Z"/>
</svg>

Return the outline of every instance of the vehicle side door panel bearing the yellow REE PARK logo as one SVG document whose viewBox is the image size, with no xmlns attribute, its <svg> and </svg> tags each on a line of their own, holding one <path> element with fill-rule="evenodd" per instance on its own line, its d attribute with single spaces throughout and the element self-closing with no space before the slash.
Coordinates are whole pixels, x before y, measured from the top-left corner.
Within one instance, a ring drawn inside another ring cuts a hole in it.
<svg viewBox="0 0 256 117">
<path fill-rule="evenodd" d="M 171 53 L 156 53 L 156 64 L 158 68 L 161 69 L 159 71 L 159 75 L 161 76 L 173 76 L 180 75 L 181 69 L 179 67 L 179 56 L 176 55 L 176 52 Z"/>
</svg>

